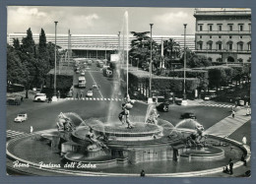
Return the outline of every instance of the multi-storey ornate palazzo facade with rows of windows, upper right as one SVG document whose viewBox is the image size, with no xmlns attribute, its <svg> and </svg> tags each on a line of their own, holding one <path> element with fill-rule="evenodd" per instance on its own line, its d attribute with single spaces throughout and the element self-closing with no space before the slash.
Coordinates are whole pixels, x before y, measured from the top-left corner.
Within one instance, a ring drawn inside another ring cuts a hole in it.
<svg viewBox="0 0 256 184">
<path fill-rule="evenodd" d="M 213 62 L 251 62 L 250 9 L 195 9 L 195 51 Z"/>
</svg>

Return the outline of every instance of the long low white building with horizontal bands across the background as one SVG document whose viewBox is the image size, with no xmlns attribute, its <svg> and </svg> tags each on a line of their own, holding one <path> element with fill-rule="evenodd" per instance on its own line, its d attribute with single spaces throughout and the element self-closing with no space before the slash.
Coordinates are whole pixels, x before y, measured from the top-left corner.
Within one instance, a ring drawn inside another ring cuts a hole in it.
<svg viewBox="0 0 256 184">
<path fill-rule="evenodd" d="M 33 33 L 33 40 L 35 43 L 39 41 L 39 34 Z M 19 38 L 22 42 L 22 38 L 26 37 L 26 32 L 21 33 L 9 33 L 7 36 L 7 42 L 13 45 L 13 39 Z M 55 41 L 54 33 L 46 33 L 47 42 Z M 76 55 L 86 56 L 86 57 L 104 57 L 105 53 L 109 53 L 113 50 L 118 50 L 119 44 L 120 48 L 126 50 L 126 42 L 122 41 L 123 36 L 120 36 L 120 40 L 117 34 L 57 34 L 57 45 L 62 49 L 68 49 L 71 47 L 72 51 Z M 153 39 L 158 43 L 161 40 L 167 40 L 173 38 L 181 47 L 184 47 L 184 35 L 153 35 Z M 129 35 L 129 41 L 134 39 L 133 35 Z M 69 44 L 70 40 L 70 44 Z M 126 38 L 125 38 L 126 40 Z M 119 42 L 120 41 L 120 42 Z M 130 45 L 130 43 L 129 43 Z M 189 49 L 195 50 L 195 35 L 186 35 L 186 45 Z"/>
</svg>

